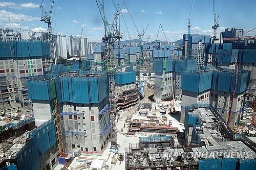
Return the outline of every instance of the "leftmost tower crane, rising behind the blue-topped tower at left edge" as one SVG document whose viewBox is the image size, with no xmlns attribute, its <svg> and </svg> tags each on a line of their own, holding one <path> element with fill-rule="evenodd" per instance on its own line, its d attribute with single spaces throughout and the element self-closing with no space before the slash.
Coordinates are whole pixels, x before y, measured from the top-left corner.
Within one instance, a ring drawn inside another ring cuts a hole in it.
<svg viewBox="0 0 256 170">
<path fill-rule="evenodd" d="M 53 8 L 53 4 L 54 4 L 54 0 L 50 0 L 50 9 L 49 12 L 46 12 L 44 6 L 42 6 L 42 3 L 44 1 L 42 1 L 40 8 L 41 8 L 41 19 L 40 21 L 44 21 L 45 23 L 47 23 L 48 25 L 48 35 L 49 35 L 49 41 L 50 41 L 50 63 L 52 64 L 57 64 L 57 54 L 56 54 L 56 48 L 54 47 L 55 43 L 53 40 L 53 31 L 52 31 L 52 22 L 51 22 L 51 18 L 52 18 L 52 8 Z"/>
</svg>

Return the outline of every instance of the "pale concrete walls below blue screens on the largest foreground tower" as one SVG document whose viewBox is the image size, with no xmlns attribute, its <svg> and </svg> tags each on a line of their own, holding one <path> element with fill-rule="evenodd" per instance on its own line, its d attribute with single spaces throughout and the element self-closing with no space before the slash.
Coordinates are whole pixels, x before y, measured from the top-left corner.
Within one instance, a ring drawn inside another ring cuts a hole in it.
<svg viewBox="0 0 256 170">
<path fill-rule="evenodd" d="M 74 106 L 68 105 L 68 103 L 63 104 L 62 112 L 82 113 L 76 114 L 77 116 L 63 115 L 63 120 L 61 120 L 62 133 L 67 132 L 63 138 L 65 148 L 68 150 L 80 148 L 81 154 L 100 155 L 109 140 L 110 130 L 106 130 L 100 135 L 107 128 L 106 125 L 109 124 L 109 115 L 102 114 L 99 116 L 98 107 L 92 105 Z"/>
</svg>

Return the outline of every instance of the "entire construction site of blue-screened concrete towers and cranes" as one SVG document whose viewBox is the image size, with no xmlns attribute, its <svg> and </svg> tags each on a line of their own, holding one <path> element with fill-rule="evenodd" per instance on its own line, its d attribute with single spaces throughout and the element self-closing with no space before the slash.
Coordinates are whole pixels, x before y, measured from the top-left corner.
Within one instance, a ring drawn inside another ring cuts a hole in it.
<svg viewBox="0 0 256 170">
<path fill-rule="evenodd" d="M 256 169 L 256 39 L 236 28 L 219 39 L 211 2 L 213 35 L 190 34 L 193 0 L 178 46 L 162 23 L 150 41 L 149 24 L 138 29 L 125 2 L 112 0 L 109 21 L 111 8 L 96 0 L 104 28 L 89 30 L 101 30 L 102 42 L 84 39 L 84 19 L 80 37 L 70 36 L 75 55 L 64 50 L 62 63 L 66 36 L 57 42 L 54 0 L 49 11 L 42 1 L 48 42 L 0 42 L 0 168 Z"/>
</svg>

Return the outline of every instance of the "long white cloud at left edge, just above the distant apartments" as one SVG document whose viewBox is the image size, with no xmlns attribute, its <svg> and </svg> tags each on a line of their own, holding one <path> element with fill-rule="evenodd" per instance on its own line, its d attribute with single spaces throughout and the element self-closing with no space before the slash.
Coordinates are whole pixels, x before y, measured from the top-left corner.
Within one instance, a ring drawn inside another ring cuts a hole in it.
<svg viewBox="0 0 256 170">
<path fill-rule="evenodd" d="M 5 10 L 0 10 L 0 21 L 8 21 L 8 18 L 10 18 L 11 21 L 20 21 L 22 19 L 24 19 L 24 21 L 39 20 L 39 17 L 27 16 L 20 13 L 15 14 Z"/>
</svg>

